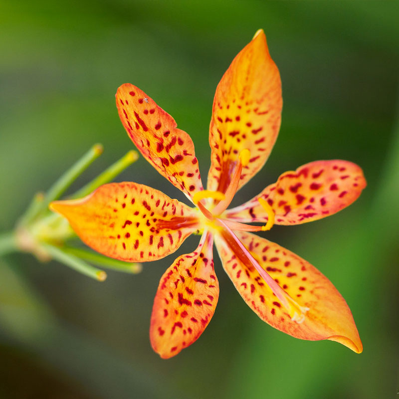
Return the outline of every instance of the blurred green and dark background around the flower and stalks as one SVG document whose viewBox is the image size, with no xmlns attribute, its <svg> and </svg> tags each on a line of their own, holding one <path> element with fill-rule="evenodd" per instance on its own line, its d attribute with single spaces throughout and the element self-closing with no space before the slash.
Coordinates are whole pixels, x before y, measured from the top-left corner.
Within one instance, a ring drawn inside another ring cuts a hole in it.
<svg viewBox="0 0 399 399">
<path fill-rule="evenodd" d="M 104 283 L 9 254 L 0 258 L 0 397 L 397 397 L 398 20 L 397 1 L 0 0 L 0 231 L 92 144 L 105 152 L 75 188 L 133 148 L 115 107 L 125 82 L 190 133 L 206 177 L 216 84 L 260 27 L 282 77 L 282 126 L 266 167 L 233 204 L 318 159 L 356 162 L 368 180 L 337 215 L 263 233 L 336 285 L 363 354 L 261 322 L 215 253 L 221 292 L 211 323 L 194 345 L 161 360 L 149 321 L 177 254 L 138 275 L 109 272 Z M 124 180 L 184 199 L 143 158 Z"/>
</svg>

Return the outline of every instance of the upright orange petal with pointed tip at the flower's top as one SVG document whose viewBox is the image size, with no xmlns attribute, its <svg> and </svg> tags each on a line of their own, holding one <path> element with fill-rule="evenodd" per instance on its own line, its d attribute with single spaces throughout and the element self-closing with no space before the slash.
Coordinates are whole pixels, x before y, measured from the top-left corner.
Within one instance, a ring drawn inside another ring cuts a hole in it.
<svg viewBox="0 0 399 399">
<path fill-rule="evenodd" d="M 238 156 L 250 151 L 238 189 L 266 162 L 281 120 L 281 80 L 263 30 L 233 59 L 216 88 L 209 128 L 208 190 L 224 193 Z"/>
</svg>

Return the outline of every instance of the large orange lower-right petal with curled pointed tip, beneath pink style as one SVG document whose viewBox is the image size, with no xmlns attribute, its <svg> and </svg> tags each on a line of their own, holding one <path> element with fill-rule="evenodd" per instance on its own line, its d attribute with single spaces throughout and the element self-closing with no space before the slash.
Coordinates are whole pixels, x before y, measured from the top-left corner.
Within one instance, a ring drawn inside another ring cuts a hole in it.
<svg viewBox="0 0 399 399">
<path fill-rule="evenodd" d="M 264 270 L 297 304 L 309 308 L 301 323 L 287 309 L 242 252 L 226 236 L 215 244 L 223 267 L 247 305 L 272 327 L 305 340 L 337 341 L 357 353 L 363 350 L 352 313 L 333 284 L 294 253 L 257 235 L 238 231 L 238 238 Z M 229 241 L 229 242 L 227 242 Z"/>
</svg>

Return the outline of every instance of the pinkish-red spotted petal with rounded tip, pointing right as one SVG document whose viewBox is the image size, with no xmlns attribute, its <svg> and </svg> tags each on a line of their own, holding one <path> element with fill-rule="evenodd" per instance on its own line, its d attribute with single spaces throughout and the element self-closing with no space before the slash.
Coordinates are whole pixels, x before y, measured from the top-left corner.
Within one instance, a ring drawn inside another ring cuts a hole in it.
<svg viewBox="0 0 399 399">
<path fill-rule="evenodd" d="M 266 221 L 267 214 L 258 201 L 261 197 L 274 210 L 276 224 L 306 223 L 350 205 L 365 187 L 358 165 L 342 160 L 315 161 L 283 173 L 252 200 L 228 209 L 225 217 L 240 222 Z"/>
</svg>

